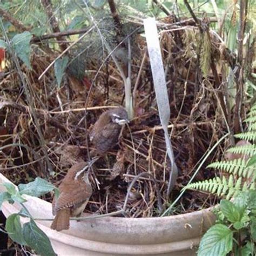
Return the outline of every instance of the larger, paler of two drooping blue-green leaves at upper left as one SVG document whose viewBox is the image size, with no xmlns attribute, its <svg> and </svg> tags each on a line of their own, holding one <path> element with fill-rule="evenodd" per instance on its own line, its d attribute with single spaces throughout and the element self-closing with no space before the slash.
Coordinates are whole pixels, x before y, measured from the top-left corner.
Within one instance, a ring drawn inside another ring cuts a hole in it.
<svg viewBox="0 0 256 256">
<path fill-rule="evenodd" d="M 28 66 L 29 69 L 32 69 L 30 65 L 31 38 L 32 38 L 31 33 L 28 31 L 25 31 L 23 33 L 20 33 L 14 36 L 14 38 L 12 38 L 12 41 L 11 41 L 12 48 L 14 48 L 14 51 L 16 52 L 17 56 L 26 64 L 26 66 Z"/>
</svg>

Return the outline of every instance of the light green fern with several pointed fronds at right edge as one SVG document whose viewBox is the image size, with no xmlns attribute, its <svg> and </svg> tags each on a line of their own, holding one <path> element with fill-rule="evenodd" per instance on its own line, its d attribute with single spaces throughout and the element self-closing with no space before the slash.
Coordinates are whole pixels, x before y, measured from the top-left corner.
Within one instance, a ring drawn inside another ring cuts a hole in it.
<svg viewBox="0 0 256 256">
<path fill-rule="evenodd" d="M 256 105 L 251 107 L 248 117 L 245 122 L 248 124 L 248 131 L 235 135 L 240 139 L 252 140 L 252 143 L 256 139 L 256 130 L 252 130 L 251 126 L 256 123 Z M 228 178 L 225 175 L 222 178 L 216 177 L 210 180 L 198 181 L 187 185 L 184 189 L 196 189 L 208 191 L 217 196 L 225 196 L 230 199 L 236 196 L 239 191 L 246 191 L 248 189 L 255 189 L 255 173 L 256 173 L 256 157 L 255 157 L 256 145 L 246 144 L 242 146 L 235 146 L 228 150 L 228 152 L 234 154 L 240 154 L 240 158 L 229 161 L 217 161 L 208 165 L 208 168 L 219 169 L 223 173 L 228 174 Z M 246 160 L 249 158 L 249 160 Z"/>
</svg>

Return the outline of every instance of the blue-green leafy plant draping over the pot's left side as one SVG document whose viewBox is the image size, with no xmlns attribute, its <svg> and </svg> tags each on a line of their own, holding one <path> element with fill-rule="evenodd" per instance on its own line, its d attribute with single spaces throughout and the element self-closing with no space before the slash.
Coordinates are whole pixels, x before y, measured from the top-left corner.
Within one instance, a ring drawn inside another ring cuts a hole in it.
<svg viewBox="0 0 256 256">
<path fill-rule="evenodd" d="M 19 213 L 11 214 L 6 220 L 5 229 L 9 237 L 21 245 L 30 246 L 38 254 L 45 256 L 56 255 L 49 238 L 39 229 L 33 217 L 23 205 L 26 201 L 23 198 L 23 194 L 39 197 L 52 190 L 58 193 L 57 188 L 42 178 L 36 178 L 28 184 L 19 184 L 18 189 L 11 183 L 4 183 L 3 185 L 6 188 L 6 192 L 0 193 L 0 206 L 4 201 L 9 201 L 9 203 L 16 202 L 22 205 L 22 210 Z M 22 226 L 20 216 L 30 218 L 29 223 L 25 223 Z"/>
</svg>

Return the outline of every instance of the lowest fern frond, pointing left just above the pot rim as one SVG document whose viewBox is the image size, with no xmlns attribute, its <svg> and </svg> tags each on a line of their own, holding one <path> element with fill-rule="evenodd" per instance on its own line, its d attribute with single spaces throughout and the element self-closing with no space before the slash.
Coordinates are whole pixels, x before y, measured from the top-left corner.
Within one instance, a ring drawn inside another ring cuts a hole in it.
<svg viewBox="0 0 256 256">
<path fill-rule="evenodd" d="M 207 191 L 211 194 L 216 193 L 218 196 L 226 195 L 226 198 L 230 199 L 239 191 L 241 191 L 241 182 L 241 177 L 237 181 L 234 181 L 234 178 L 231 175 L 228 180 L 226 177 L 223 177 L 222 179 L 220 177 L 216 177 L 213 179 L 189 184 L 185 187 L 185 189 L 188 188 L 193 190 Z"/>
</svg>

